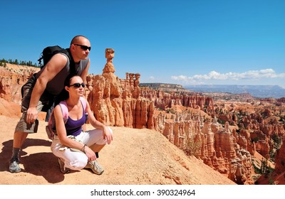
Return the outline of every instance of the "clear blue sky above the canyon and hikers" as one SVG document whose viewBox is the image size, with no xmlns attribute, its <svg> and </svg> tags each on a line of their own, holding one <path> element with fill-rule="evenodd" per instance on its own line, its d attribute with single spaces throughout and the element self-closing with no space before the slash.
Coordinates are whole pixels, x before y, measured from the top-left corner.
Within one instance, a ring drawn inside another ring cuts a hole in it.
<svg viewBox="0 0 285 199">
<path fill-rule="evenodd" d="M 285 1 L 4 1 L 0 58 L 31 60 L 48 45 L 90 39 L 90 73 L 105 48 L 115 75 L 180 85 L 285 88 Z"/>
</svg>

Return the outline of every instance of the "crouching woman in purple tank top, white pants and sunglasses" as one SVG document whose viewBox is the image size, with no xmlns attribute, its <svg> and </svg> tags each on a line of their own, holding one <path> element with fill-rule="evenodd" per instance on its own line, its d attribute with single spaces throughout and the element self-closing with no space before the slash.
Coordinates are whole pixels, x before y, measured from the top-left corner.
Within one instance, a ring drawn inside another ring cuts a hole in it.
<svg viewBox="0 0 285 199">
<path fill-rule="evenodd" d="M 63 120 L 60 105 L 54 108 L 57 135 L 51 144 L 51 151 L 58 156 L 58 163 L 62 173 L 82 168 L 91 168 L 98 175 L 103 173 L 103 168 L 96 160 L 96 154 L 103 149 L 105 144 L 113 141 L 113 131 L 106 127 L 93 116 L 93 112 L 86 99 L 83 97 L 85 84 L 80 76 L 66 78 L 65 90 L 68 97 L 65 100 L 68 107 L 68 119 Z M 85 100 L 85 101 L 84 101 Z M 86 109 L 83 104 L 86 104 Z M 96 129 L 83 131 L 82 126 L 88 121 Z"/>
</svg>

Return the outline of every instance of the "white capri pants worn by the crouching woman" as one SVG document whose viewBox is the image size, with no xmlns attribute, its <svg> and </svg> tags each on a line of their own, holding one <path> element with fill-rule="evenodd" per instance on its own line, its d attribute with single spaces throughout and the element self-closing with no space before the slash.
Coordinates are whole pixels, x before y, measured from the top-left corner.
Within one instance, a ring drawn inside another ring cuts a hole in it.
<svg viewBox="0 0 285 199">
<path fill-rule="evenodd" d="M 110 133 L 113 134 L 112 129 L 110 129 L 110 127 L 108 128 Z M 91 146 L 93 144 L 107 144 L 107 139 L 103 139 L 103 131 L 101 129 L 93 129 L 90 131 L 81 132 L 81 134 L 76 136 L 76 139 L 87 146 Z M 81 170 L 88 162 L 88 157 L 85 153 L 82 151 L 73 151 L 73 149 L 64 146 L 61 144 L 58 136 L 54 136 L 51 144 L 51 151 L 55 156 L 64 161 L 64 166 L 66 168 L 71 168 L 72 170 Z"/>
</svg>

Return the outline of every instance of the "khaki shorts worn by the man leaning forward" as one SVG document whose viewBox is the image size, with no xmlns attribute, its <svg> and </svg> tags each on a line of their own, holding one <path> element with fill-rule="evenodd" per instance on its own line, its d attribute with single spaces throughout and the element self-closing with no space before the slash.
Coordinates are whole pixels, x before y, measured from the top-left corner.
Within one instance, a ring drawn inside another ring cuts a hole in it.
<svg viewBox="0 0 285 199">
<path fill-rule="evenodd" d="M 33 90 L 33 85 L 36 83 L 36 79 L 33 77 L 26 82 L 26 84 L 22 87 L 23 89 L 23 98 L 21 102 L 21 112 L 22 116 L 19 120 L 18 124 L 16 125 L 15 131 L 21 131 L 26 132 L 29 134 L 36 133 L 38 131 L 38 119 L 33 124 L 26 123 L 26 112 L 28 109 L 28 106 L 30 104 L 31 99 L 31 92 Z M 38 110 L 38 113 L 41 112 L 43 109 L 43 106 L 48 104 L 50 102 L 50 96 L 48 96 L 46 93 L 43 93 L 40 100 L 38 101 L 38 105 L 36 109 Z"/>
</svg>

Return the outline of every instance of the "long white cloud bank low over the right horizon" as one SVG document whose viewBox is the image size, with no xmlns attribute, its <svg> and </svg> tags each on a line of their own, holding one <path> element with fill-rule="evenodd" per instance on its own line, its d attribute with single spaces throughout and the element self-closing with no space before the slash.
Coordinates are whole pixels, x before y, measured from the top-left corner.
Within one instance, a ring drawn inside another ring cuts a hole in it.
<svg viewBox="0 0 285 199">
<path fill-rule="evenodd" d="M 193 75 L 187 77 L 185 75 L 172 76 L 172 80 L 195 82 L 203 80 L 261 80 L 264 78 L 284 78 L 285 73 L 277 74 L 273 69 L 262 70 L 249 70 L 246 72 L 226 72 L 219 73 L 217 71 L 211 71 L 206 75 Z"/>
</svg>

